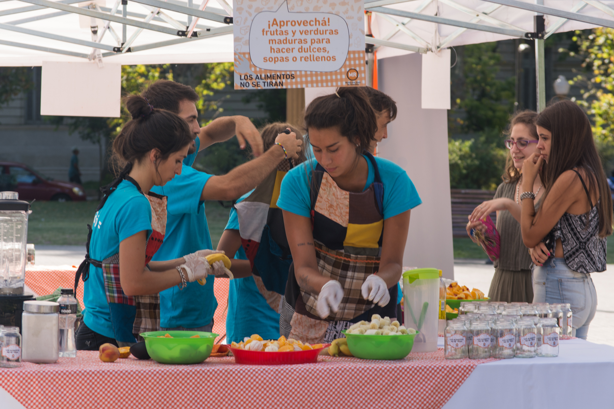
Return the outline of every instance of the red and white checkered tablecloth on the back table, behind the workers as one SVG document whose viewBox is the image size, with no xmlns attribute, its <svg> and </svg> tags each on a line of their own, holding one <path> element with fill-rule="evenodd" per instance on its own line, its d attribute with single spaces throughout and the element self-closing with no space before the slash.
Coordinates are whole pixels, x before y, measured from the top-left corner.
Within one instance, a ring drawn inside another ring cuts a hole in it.
<svg viewBox="0 0 614 409">
<path fill-rule="evenodd" d="M 36 293 L 37 296 L 51 294 L 58 287 L 73 288 L 75 282 L 76 266 L 28 266 L 26 268 L 26 286 Z M 218 278 L 213 286 L 216 294 L 217 309 L 213 315 L 213 332 L 220 334 L 216 341 L 221 341 L 226 336 L 226 313 L 228 311 L 228 280 Z M 80 281 L 76 294 L 81 307 L 83 307 L 83 281 Z"/>
</svg>

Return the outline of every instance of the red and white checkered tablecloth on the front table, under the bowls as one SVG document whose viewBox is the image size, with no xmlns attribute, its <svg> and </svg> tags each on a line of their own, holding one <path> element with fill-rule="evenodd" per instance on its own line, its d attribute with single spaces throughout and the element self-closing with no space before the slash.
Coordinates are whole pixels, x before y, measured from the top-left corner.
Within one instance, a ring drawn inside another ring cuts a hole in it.
<svg viewBox="0 0 614 409">
<path fill-rule="evenodd" d="M 448 361 L 443 350 L 397 361 L 320 356 L 317 364 L 238 365 L 233 357 L 163 365 L 96 351 L 55 364 L 0 368 L 0 386 L 27 409 L 441 408 L 495 359 Z"/>
</svg>

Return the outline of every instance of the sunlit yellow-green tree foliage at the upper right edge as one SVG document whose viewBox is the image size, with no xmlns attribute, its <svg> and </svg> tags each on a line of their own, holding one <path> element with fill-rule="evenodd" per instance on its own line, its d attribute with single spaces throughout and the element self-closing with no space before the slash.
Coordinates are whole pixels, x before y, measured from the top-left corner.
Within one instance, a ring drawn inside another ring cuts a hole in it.
<svg viewBox="0 0 614 409">
<path fill-rule="evenodd" d="M 582 85 L 582 98 L 576 101 L 593 120 L 593 137 L 605 171 L 612 170 L 614 159 L 614 29 L 599 27 L 576 31 L 572 38 L 578 45 L 578 56 L 584 58 L 585 73 L 573 78 Z M 569 50 L 570 55 L 575 55 Z"/>
</svg>

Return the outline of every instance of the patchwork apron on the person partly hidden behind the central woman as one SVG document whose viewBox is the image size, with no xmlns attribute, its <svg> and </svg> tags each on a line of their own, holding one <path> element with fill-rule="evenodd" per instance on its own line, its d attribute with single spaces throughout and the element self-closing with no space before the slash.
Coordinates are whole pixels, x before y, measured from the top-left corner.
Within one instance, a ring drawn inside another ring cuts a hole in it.
<svg viewBox="0 0 614 409">
<path fill-rule="evenodd" d="M 281 208 L 277 207 L 281 181 L 293 162 L 282 161 L 252 194 L 235 204 L 241 244 L 249 260 L 258 291 L 275 312 L 286 292 L 292 254 Z"/>
</svg>

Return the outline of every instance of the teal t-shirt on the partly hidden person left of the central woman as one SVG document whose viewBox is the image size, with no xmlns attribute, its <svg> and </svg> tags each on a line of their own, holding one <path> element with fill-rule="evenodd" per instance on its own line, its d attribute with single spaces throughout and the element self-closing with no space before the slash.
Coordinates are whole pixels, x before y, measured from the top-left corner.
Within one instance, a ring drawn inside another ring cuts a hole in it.
<svg viewBox="0 0 614 409">
<path fill-rule="evenodd" d="M 241 196 L 242 201 L 251 192 Z M 231 208 L 226 229 L 239 229 L 239 219 L 236 209 Z M 235 259 L 247 260 L 243 246 L 235 254 Z M 230 280 L 228 288 L 228 313 L 226 315 L 226 343 L 241 342 L 244 337 L 258 334 L 262 338 L 279 338 L 279 314 L 267 303 L 260 294 L 254 277 L 235 278 Z"/>
</svg>

